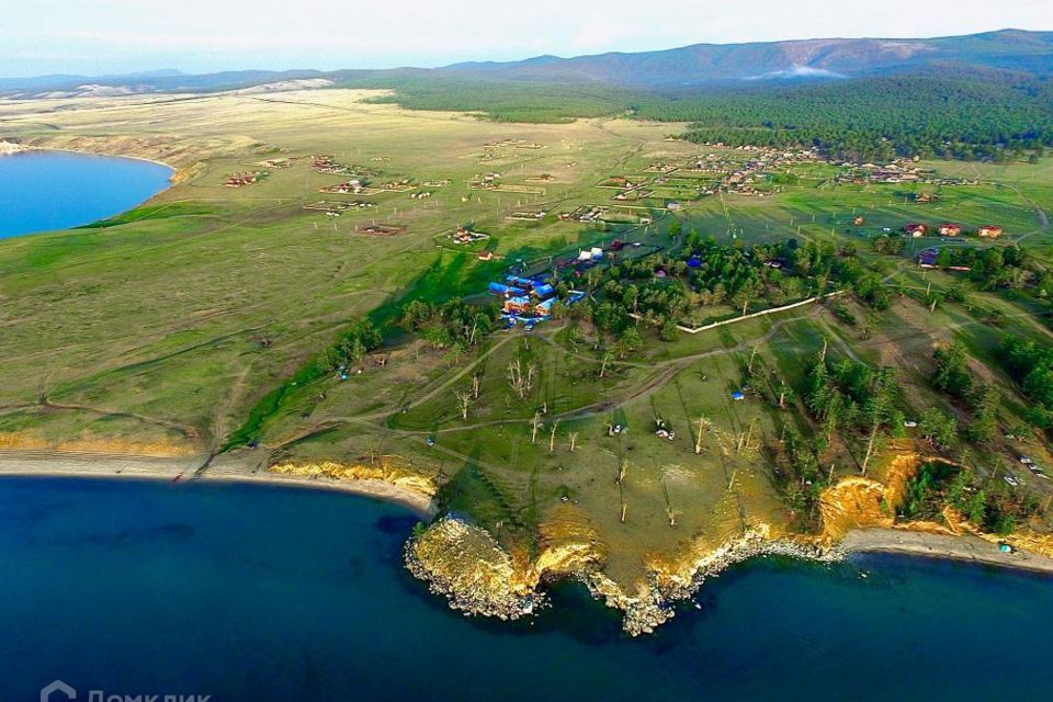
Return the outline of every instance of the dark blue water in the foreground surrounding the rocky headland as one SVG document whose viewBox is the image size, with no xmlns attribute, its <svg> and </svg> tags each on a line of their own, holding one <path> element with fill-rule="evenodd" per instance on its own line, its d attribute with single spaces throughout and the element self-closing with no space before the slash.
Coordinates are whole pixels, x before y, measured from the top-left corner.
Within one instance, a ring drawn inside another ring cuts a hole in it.
<svg viewBox="0 0 1053 702">
<path fill-rule="evenodd" d="M 467 620 L 401 568 L 415 518 L 265 486 L 0 479 L 0 699 L 1038 700 L 1053 580 L 939 562 L 761 559 L 655 636 L 577 587 Z M 868 577 L 862 577 L 865 573 Z M 53 699 L 65 699 L 56 694 Z"/>
</svg>

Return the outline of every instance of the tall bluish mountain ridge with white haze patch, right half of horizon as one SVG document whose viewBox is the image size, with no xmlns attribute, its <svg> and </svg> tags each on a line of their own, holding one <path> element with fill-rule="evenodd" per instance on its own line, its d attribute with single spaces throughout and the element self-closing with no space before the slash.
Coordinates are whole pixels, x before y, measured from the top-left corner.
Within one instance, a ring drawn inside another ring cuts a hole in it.
<svg viewBox="0 0 1053 702">
<path fill-rule="evenodd" d="M 1001 69 L 1053 75 L 1053 32 L 1003 30 L 930 39 L 829 38 L 697 44 L 663 52 L 456 64 L 445 72 L 514 81 L 683 88 L 758 80 L 879 77 L 919 70 Z"/>
</svg>

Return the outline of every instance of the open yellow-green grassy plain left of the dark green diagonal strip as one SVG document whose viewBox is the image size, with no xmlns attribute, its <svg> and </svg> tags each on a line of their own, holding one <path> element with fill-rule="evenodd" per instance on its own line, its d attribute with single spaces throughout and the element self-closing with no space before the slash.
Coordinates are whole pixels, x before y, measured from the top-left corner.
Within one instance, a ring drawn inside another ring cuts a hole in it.
<svg viewBox="0 0 1053 702">
<path fill-rule="evenodd" d="M 473 156 L 484 143 L 545 138 L 545 152 L 524 152 L 513 167 L 557 172 L 561 180 L 550 189 L 557 200 L 577 178 L 592 178 L 585 173 L 598 154 L 627 143 L 587 125 L 503 128 L 367 105 L 363 97 L 0 106 L 9 117 L 5 134 L 24 143 L 178 152 L 176 165 L 189 177 L 106 226 L 4 242 L 2 404 L 32 405 L 46 396 L 134 412 L 179 424 L 200 448 L 215 448 L 261 395 L 342 326 L 422 276 L 437 261 L 435 237 L 467 222 L 500 222 L 501 211 L 514 206 L 520 197 L 490 193 L 461 202 L 466 182 L 487 169 Z M 29 114 L 42 105 L 46 115 Z M 42 118 L 63 125 L 45 129 Z M 597 155 L 568 168 L 566 159 L 580 159 L 590 144 Z M 244 190 L 223 186 L 229 174 L 286 154 L 332 154 L 376 171 L 376 180 L 451 184 L 419 205 L 408 194 L 381 194 L 374 208 L 339 219 L 303 208 L 324 199 L 319 188 L 340 180 L 304 161 Z M 354 233 L 373 220 L 396 223 L 406 234 Z"/>
</svg>

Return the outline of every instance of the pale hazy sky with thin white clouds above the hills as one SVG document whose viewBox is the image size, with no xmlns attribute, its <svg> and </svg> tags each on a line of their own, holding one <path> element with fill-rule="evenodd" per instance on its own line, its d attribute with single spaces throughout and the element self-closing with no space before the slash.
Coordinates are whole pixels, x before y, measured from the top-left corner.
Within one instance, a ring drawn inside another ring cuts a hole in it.
<svg viewBox="0 0 1053 702">
<path fill-rule="evenodd" d="M 0 0 L 0 76 L 383 68 L 1053 30 L 1053 0 Z"/>
</svg>

